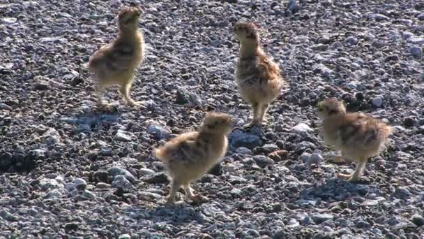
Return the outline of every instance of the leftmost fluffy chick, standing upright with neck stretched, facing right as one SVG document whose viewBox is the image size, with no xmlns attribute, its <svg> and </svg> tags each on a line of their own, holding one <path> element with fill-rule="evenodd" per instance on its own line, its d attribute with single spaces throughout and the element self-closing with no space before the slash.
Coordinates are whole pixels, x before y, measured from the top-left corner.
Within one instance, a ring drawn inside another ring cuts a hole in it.
<svg viewBox="0 0 424 239">
<path fill-rule="evenodd" d="M 119 85 L 123 99 L 130 106 L 139 103 L 130 96 L 135 68 L 144 57 L 144 37 L 139 30 L 141 12 L 135 7 L 124 7 L 118 14 L 118 37 L 103 45 L 89 59 L 89 69 L 97 78 L 96 92 L 100 106 L 107 106 L 102 101 L 102 92 L 106 87 Z"/>
</svg>

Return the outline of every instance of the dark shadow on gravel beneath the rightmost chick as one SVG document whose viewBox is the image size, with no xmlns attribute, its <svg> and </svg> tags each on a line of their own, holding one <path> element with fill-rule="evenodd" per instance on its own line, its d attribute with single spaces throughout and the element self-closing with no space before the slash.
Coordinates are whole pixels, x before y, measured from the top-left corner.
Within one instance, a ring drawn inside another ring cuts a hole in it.
<svg viewBox="0 0 424 239">
<path fill-rule="evenodd" d="M 366 181 L 348 182 L 341 178 L 331 178 L 324 184 L 303 189 L 299 199 L 319 198 L 322 201 L 345 201 L 352 196 L 365 196 L 372 191 L 372 186 Z"/>
</svg>

